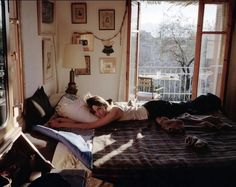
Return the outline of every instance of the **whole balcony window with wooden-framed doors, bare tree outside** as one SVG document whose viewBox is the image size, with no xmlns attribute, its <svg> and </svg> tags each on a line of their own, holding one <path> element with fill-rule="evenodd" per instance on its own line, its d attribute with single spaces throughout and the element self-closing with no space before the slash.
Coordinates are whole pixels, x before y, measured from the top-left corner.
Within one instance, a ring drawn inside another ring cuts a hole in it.
<svg viewBox="0 0 236 187">
<path fill-rule="evenodd" d="M 146 76 L 159 99 L 211 92 L 223 100 L 230 15 L 227 0 L 132 1 L 129 94 L 138 95 L 138 77 Z"/>
</svg>

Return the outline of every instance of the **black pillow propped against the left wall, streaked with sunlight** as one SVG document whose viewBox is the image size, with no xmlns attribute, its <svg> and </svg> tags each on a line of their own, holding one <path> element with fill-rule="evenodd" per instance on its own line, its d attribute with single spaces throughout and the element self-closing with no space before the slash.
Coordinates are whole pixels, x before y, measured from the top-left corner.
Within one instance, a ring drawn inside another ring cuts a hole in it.
<svg viewBox="0 0 236 187">
<path fill-rule="evenodd" d="M 24 102 L 23 116 L 25 119 L 26 130 L 31 130 L 33 125 L 46 123 L 54 114 L 44 88 L 38 88 L 33 96 Z"/>
</svg>

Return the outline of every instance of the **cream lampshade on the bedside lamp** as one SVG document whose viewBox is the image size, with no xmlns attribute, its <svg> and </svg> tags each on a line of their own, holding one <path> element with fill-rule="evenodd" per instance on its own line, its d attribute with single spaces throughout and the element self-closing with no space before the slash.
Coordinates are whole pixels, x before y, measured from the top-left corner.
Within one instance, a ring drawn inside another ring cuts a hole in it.
<svg viewBox="0 0 236 187">
<path fill-rule="evenodd" d="M 67 44 L 64 49 L 63 67 L 86 68 L 84 49 L 80 44 Z"/>
</svg>

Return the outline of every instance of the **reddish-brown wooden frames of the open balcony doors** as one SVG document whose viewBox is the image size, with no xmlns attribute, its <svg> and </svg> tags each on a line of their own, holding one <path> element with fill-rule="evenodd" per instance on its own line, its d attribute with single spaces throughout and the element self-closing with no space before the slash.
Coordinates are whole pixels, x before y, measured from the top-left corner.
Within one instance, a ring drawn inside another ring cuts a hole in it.
<svg viewBox="0 0 236 187">
<path fill-rule="evenodd" d="M 128 4 L 131 7 L 132 0 L 128 0 Z M 199 68 L 200 68 L 200 55 L 201 55 L 201 39 L 203 34 L 225 34 L 226 35 L 226 47 L 225 47 L 225 52 L 224 52 L 224 63 L 223 63 L 223 71 L 222 71 L 222 80 L 221 80 L 221 88 L 220 88 L 220 98 L 222 102 L 224 102 L 224 97 L 225 97 L 225 89 L 226 89 L 226 80 L 227 80 L 227 65 L 229 63 L 229 51 L 230 51 L 230 38 L 232 37 L 232 0 L 199 0 L 199 12 L 198 12 L 198 27 L 197 27 L 197 36 L 196 36 L 196 44 L 195 44 L 195 59 L 194 59 L 194 75 L 193 75 L 193 83 L 192 83 L 192 99 L 196 98 L 197 91 L 198 91 L 198 79 L 199 79 Z M 219 3 L 227 3 L 228 6 L 228 23 L 227 28 L 225 31 L 203 31 L 203 16 L 204 16 L 204 5 L 205 4 L 219 4 Z M 129 27 L 131 25 L 131 9 L 128 11 L 128 23 Z M 140 11 L 139 11 L 140 13 Z M 130 37 L 131 36 L 131 30 L 128 30 L 128 52 L 129 54 L 129 59 L 130 59 Z M 139 55 L 139 48 L 136 46 L 136 66 L 138 67 L 138 55 Z M 138 69 L 136 69 L 136 72 L 138 72 Z M 127 95 L 126 98 L 128 100 L 129 94 L 130 94 L 130 60 L 127 61 Z M 136 74 L 136 80 L 137 80 L 137 74 Z M 137 82 L 136 82 L 136 87 L 137 87 Z"/>
</svg>

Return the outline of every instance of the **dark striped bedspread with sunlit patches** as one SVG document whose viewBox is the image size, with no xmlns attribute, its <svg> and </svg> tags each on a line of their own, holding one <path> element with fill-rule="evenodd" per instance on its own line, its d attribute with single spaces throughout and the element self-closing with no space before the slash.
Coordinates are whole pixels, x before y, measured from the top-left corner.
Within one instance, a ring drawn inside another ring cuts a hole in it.
<svg viewBox="0 0 236 187">
<path fill-rule="evenodd" d="M 94 176 L 163 178 L 165 173 L 173 179 L 191 172 L 197 172 L 200 178 L 210 177 L 211 172 L 215 180 L 215 172 L 224 175 L 227 170 L 225 175 L 232 179 L 231 173 L 236 170 L 236 125 L 222 116 L 221 119 L 227 128 L 206 128 L 186 120 L 184 134 L 166 133 L 150 120 L 114 122 L 97 129 L 93 138 Z M 187 146 L 186 137 L 190 135 L 204 140 L 207 146 Z"/>
</svg>

